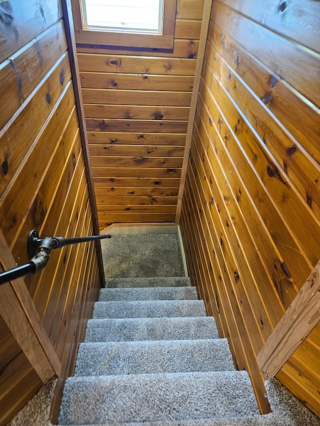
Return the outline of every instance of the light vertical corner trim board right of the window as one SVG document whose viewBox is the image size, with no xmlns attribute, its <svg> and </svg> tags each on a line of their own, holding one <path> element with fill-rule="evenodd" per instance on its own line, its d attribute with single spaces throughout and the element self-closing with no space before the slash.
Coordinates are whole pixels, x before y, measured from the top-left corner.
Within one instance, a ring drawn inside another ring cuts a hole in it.
<svg viewBox="0 0 320 426">
<path fill-rule="evenodd" d="M 188 126 L 186 130 L 185 148 L 184 148 L 184 156 L 183 156 L 182 171 L 181 171 L 181 178 L 180 178 L 178 203 L 177 203 L 176 213 L 175 213 L 176 224 L 179 223 L 180 215 L 181 215 L 182 197 L 184 192 L 186 171 L 187 171 L 188 160 L 189 160 L 189 151 L 191 146 L 193 123 L 195 118 L 196 104 L 197 104 L 198 92 L 200 87 L 201 70 L 202 70 L 202 64 L 203 64 L 203 58 L 204 58 L 204 52 L 205 52 L 205 46 L 206 46 L 206 38 L 207 38 L 208 29 L 209 29 L 211 6 L 212 6 L 212 0 L 204 1 L 200 41 L 199 41 L 199 48 L 198 48 L 198 54 L 196 59 L 196 65 L 195 65 L 193 91 L 191 96 Z"/>
</svg>

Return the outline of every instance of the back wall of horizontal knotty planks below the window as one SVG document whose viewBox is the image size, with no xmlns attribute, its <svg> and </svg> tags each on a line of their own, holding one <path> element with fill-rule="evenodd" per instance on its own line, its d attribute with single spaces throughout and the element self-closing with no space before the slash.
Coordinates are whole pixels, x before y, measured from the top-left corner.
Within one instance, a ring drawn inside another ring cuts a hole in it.
<svg viewBox="0 0 320 426">
<path fill-rule="evenodd" d="M 173 51 L 77 45 L 100 229 L 174 222 L 204 0 L 178 0 Z"/>
</svg>

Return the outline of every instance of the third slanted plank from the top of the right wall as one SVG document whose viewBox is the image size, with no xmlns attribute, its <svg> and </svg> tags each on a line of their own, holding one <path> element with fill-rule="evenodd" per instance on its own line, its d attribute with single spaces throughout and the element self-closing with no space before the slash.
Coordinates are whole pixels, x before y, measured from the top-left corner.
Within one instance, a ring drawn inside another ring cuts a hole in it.
<svg viewBox="0 0 320 426">
<path fill-rule="evenodd" d="M 320 150 L 317 143 L 320 110 L 312 107 L 286 81 L 252 56 L 216 23 L 210 22 L 208 38 L 215 50 L 258 98 L 265 98 L 266 95 L 269 95 L 269 98 L 272 96 L 272 100 L 265 104 L 266 108 L 320 163 Z M 228 46 L 227 49 L 223 47 L 225 45 Z"/>
</svg>

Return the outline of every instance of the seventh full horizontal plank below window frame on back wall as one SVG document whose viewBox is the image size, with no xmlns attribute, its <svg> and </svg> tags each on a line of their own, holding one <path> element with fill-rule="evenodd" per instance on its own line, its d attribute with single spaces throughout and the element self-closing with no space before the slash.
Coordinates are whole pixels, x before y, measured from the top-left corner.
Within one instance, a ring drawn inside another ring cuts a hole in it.
<svg viewBox="0 0 320 426">
<path fill-rule="evenodd" d="M 147 157 L 183 157 L 183 147 L 162 145 L 102 145 L 90 144 L 92 156 L 147 156 Z"/>
</svg>

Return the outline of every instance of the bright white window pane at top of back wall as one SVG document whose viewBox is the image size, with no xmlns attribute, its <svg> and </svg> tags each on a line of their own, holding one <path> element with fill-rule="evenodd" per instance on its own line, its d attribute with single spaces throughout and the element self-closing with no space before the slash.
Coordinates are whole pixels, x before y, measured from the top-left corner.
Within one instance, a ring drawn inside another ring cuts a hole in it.
<svg viewBox="0 0 320 426">
<path fill-rule="evenodd" d="M 162 31 L 163 0 L 82 0 L 86 28 Z"/>
</svg>

